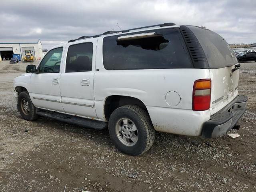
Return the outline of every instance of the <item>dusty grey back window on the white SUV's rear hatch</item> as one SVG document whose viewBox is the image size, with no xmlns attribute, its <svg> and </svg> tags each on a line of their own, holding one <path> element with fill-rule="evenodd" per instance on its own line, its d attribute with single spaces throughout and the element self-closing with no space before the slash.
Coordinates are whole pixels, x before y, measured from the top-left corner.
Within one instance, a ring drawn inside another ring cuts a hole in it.
<svg viewBox="0 0 256 192">
<path fill-rule="evenodd" d="M 187 26 L 196 36 L 206 55 L 209 68 L 223 68 L 237 63 L 228 43 L 213 31 L 196 26 Z"/>
</svg>

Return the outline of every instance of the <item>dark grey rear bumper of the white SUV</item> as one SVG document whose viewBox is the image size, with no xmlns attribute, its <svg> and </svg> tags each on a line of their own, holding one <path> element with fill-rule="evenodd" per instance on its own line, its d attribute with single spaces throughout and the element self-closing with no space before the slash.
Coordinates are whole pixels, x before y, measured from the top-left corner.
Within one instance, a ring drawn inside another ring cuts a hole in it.
<svg viewBox="0 0 256 192">
<path fill-rule="evenodd" d="M 212 115 L 203 125 L 202 137 L 218 137 L 234 128 L 246 110 L 247 100 L 247 96 L 238 95 L 226 107 Z"/>
</svg>

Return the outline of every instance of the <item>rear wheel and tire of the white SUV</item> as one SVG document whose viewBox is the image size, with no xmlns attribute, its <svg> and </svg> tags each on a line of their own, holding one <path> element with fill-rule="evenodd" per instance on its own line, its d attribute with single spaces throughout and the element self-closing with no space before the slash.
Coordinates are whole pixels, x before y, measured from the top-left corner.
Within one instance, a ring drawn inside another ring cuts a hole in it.
<svg viewBox="0 0 256 192">
<path fill-rule="evenodd" d="M 148 113 L 136 105 L 126 105 L 114 110 L 108 122 L 108 130 L 116 148 L 131 156 L 149 150 L 156 137 Z"/>
</svg>

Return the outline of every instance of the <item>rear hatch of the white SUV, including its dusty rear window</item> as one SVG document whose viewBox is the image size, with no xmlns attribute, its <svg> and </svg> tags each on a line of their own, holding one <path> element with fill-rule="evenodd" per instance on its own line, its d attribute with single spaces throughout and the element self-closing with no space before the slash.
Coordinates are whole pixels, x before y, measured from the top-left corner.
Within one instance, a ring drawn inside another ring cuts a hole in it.
<svg viewBox="0 0 256 192">
<path fill-rule="evenodd" d="M 196 36 L 206 56 L 210 78 L 211 115 L 224 108 L 238 95 L 240 64 L 233 50 L 220 35 L 205 28 L 187 26 Z"/>
</svg>

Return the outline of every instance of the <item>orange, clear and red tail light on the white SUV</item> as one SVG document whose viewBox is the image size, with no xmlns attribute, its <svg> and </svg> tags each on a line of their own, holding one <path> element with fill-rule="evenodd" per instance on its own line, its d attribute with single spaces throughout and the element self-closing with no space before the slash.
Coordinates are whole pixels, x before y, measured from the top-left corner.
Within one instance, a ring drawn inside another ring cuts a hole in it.
<svg viewBox="0 0 256 192">
<path fill-rule="evenodd" d="M 204 111 L 210 108 L 212 82 L 210 79 L 200 79 L 194 82 L 192 108 L 194 111 Z"/>
</svg>

